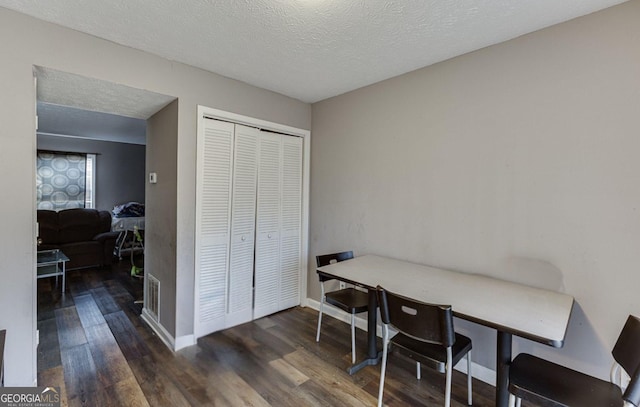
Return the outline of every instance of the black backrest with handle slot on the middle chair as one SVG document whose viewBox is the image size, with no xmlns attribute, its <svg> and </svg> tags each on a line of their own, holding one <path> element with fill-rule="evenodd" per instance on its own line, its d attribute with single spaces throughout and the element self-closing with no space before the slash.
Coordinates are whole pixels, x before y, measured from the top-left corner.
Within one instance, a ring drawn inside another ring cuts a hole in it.
<svg viewBox="0 0 640 407">
<path fill-rule="evenodd" d="M 450 305 L 427 304 L 377 287 L 382 322 L 414 339 L 452 346 L 456 341 Z"/>
</svg>

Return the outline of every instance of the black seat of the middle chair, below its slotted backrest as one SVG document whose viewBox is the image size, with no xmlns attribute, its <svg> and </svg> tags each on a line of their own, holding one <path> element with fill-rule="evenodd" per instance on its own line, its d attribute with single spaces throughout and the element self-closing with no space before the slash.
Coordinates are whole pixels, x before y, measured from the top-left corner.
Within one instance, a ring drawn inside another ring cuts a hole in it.
<svg viewBox="0 0 640 407">
<path fill-rule="evenodd" d="M 418 341 L 403 333 L 391 338 L 392 350 L 399 352 L 417 362 L 431 367 L 440 373 L 446 370 L 447 349 L 438 344 Z M 451 347 L 453 366 L 471 350 L 471 339 L 456 333 L 456 341 Z"/>
</svg>

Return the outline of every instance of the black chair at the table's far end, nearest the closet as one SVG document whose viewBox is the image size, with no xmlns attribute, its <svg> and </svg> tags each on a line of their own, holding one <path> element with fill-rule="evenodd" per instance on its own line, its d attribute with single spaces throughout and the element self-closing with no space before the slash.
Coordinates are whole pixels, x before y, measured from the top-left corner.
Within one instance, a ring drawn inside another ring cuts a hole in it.
<svg viewBox="0 0 640 407">
<path fill-rule="evenodd" d="M 324 254 L 316 256 L 316 264 L 318 267 L 327 266 L 344 260 L 353 259 L 353 252 L 341 252 Z M 369 294 L 356 289 L 355 287 L 347 287 L 338 291 L 325 292 L 325 281 L 333 280 L 318 274 L 320 279 L 320 312 L 318 314 L 318 332 L 316 333 L 316 342 L 320 341 L 320 325 L 322 324 L 322 308 L 324 303 L 331 304 L 345 312 L 351 314 L 351 363 L 356 363 L 356 314 L 367 311 L 369 307 Z"/>
</svg>

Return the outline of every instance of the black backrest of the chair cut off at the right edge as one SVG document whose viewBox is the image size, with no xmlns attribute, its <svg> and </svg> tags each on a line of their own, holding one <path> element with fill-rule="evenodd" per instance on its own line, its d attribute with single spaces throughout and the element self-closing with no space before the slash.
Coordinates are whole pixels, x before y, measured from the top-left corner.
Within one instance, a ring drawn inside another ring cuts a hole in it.
<svg viewBox="0 0 640 407">
<path fill-rule="evenodd" d="M 640 319 L 629 315 L 613 347 L 613 358 L 631 376 L 623 399 L 634 406 L 640 404 Z"/>
</svg>

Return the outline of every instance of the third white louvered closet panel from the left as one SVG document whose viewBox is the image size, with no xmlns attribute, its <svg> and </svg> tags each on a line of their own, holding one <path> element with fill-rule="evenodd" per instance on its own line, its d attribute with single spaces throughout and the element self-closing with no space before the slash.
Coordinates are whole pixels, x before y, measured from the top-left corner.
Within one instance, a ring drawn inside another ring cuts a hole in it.
<svg viewBox="0 0 640 407">
<path fill-rule="evenodd" d="M 280 134 L 260 135 L 253 310 L 256 319 L 279 310 L 281 141 Z"/>
</svg>

